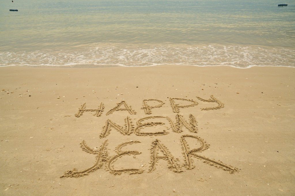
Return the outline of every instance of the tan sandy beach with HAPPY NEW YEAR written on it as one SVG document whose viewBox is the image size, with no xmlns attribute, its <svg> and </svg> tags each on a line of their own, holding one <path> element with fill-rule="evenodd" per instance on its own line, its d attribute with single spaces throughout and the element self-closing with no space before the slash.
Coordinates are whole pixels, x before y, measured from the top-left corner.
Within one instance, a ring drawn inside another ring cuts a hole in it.
<svg viewBox="0 0 295 196">
<path fill-rule="evenodd" d="M 1 67 L 0 194 L 294 195 L 294 73 Z"/>
</svg>

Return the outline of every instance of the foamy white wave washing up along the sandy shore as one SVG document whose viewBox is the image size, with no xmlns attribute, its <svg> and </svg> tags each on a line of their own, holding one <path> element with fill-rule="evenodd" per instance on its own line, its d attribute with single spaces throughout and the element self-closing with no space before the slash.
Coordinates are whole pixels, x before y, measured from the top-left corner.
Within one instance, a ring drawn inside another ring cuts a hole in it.
<svg viewBox="0 0 295 196">
<path fill-rule="evenodd" d="M 187 44 L 92 44 L 70 49 L 0 52 L 4 66 L 126 66 L 163 64 L 194 66 L 295 67 L 295 49 L 288 47 L 187 45 Z"/>
</svg>

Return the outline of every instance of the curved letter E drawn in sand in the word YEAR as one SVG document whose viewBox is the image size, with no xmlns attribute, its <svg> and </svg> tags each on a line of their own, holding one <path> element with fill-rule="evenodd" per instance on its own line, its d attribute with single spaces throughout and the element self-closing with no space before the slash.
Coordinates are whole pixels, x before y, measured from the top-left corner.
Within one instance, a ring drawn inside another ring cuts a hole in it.
<svg viewBox="0 0 295 196">
<path fill-rule="evenodd" d="M 110 157 L 106 166 L 107 166 L 107 170 L 110 171 L 110 173 L 114 174 L 114 175 L 121 175 L 123 172 L 128 172 L 129 174 L 141 174 L 143 172 L 143 170 L 140 169 L 121 169 L 121 170 L 115 170 L 114 167 L 112 166 L 112 164 L 120 157 L 122 157 L 123 155 L 138 155 L 141 152 L 138 152 L 136 150 L 132 150 L 132 151 L 121 151 L 121 148 L 126 146 L 127 144 L 134 144 L 134 143 L 141 143 L 139 141 L 130 141 L 130 142 L 125 142 L 122 144 L 119 144 L 116 148 L 117 151 L 117 155 L 114 155 L 113 157 Z"/>
</svg>

